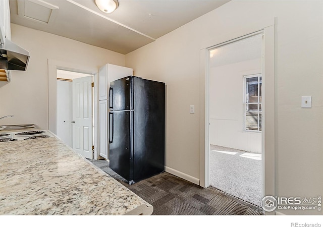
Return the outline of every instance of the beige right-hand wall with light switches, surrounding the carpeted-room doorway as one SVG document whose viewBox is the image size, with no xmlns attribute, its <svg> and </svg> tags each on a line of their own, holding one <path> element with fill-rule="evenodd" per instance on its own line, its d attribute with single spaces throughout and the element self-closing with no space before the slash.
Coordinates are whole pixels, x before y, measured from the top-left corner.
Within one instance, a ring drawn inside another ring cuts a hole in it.
<svg viewBox="0 0 323 227">
<path fill-rule="evenodd" d="M 276 18 L 275 194 L 315 197 L 323 193 L 322 1 L 232 1 L 127 54 L 126 66 L 135 75 L 167 83 L 166 165 L 198 179 L 204 142 L 199 139 L 200 49 L 218 44 L 211 42 L 214 37 L 255 32 L 247 28 L 266 18 Z M 302 95 L 312 95 L 311 109 L 300 107 Z M 189 113 L 190 104 L 195 114 Z"/>
</svg>

